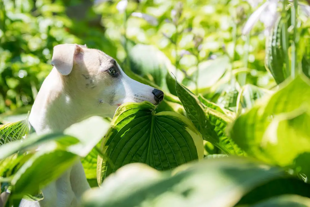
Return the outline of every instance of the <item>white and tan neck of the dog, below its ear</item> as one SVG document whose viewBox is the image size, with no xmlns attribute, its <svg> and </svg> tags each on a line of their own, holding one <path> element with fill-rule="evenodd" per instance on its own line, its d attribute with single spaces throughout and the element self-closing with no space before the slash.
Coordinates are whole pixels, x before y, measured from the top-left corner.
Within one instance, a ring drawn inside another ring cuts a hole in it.
<svg viewBox="0 0 310 207">
<path fill-rule="evenodd" d="M 55 68 L 44 80 L 29 115 L 29 122 L 36 133 L 63 131 L 83 119 L 77 97 L 66 94 L 63 80 Z"/>
</svg>

